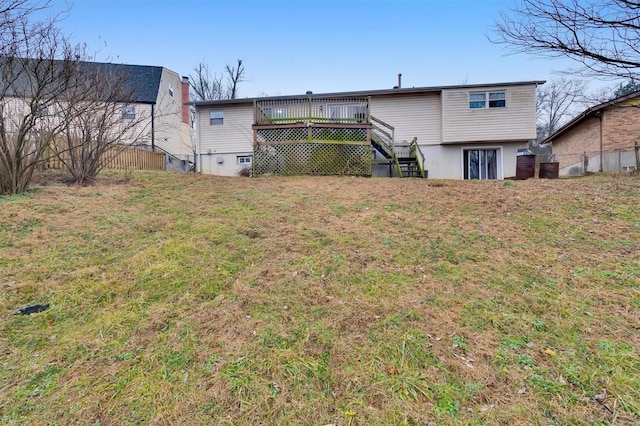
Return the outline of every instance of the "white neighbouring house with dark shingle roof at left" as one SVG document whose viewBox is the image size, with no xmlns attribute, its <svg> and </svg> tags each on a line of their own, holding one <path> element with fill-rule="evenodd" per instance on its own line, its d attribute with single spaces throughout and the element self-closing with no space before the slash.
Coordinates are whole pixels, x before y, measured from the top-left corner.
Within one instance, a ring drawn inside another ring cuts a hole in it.
<svg viewBox="0 0 640 426">
<path fill-rule="evenodd" d="M 31 66 L 30 64 L 34 65 Z M 36 64 L 47 64 L 46 60 L 36 60 L 31 58 L 13 58 L 5 60 L 2 65 L 2 75 L 0 75 L 0 88 L 3 93 L 3 103 L 0 105 L 0 113 L 5 115 L 5 125 L 18 125 L 23 117 L 23 110 L 29 108 L 31 101 L 31 91 L 36 90 L 33 86 L 41 90 L 46 85 L 51 84 L 56 87 L 57 83 L 49 81 L 45 65 L 39 65 L 38 78 L 33 75 Z M 76 78 L 81 78 L 83 73 L 89 76 L 111 76 L 115 77 L 124 86 L 117 88 L 127 93 L 123 96 L 126 99 L 120 101 L 120 123 L 123 127 L 129 128 L 121 136 L 121 142 L 146 149 L 160 151 L 166 155 L 167 169 L 189 170 L 189 163 L 193 163 L 195 158 L 194 135 L 192 130 L 191 110 L 189 102 L 189 79 L 180 77 L 174 71 L 160 66 L 115 64 L 106 62 L 79 61 L 72 62 L 71 65 L 61 60 L 51 60 L 51 66 L 58 66 L 64 69 L 65 66 L 78 66 Z M 62 71 L 60 76 L 65 75 Z M 62 78 L 62 77 L 61 77 Z M 1 82 L 5 81 L 3 87 Z M 104 81 L 104 80 L 103 80 Z M 33 83 L 35 82 L 35 83 Z M 55 92 L 55 91 L 52 91 Z M 48 92 L 44 92 L 48 93 Z M 48 120 L 55 122 L 55 103 L 64 104 L 65 97 L 47 99 L 42 106 L 43 116 L 48 116 Z M 114 94 L 114 96 L 120 96 Z M 47 105 L 47 103 L 49 103 Z M 117 119 L 117 117 L 116 117 Z M 129 123 L 127 125 L 127 122 Z M 180 163 L 180 164 L 176 164 Z"/>
</svg>

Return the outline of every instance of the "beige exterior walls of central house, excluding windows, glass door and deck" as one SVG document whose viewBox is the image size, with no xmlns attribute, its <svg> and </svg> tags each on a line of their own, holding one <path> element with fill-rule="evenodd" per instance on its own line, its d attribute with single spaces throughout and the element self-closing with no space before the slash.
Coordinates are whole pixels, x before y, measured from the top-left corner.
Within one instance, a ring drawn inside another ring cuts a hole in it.
<svg viewBox="0 0 640 426">
<path fill-rule="evenodd" d="M 395 128 L 396 141 L 418 138 L 429 178 L 462 179 L 463 149 L 499 149 L 498 178 L 515 176 L 516 151 L 535 138 L 535 84 L 487 86 L 472 91 L 505 91 L 506 107 L 469 108 L 469 88 L 441 93 L 374 95 L 370 113 Z M 212 111 L 222 111 L 222 125 L 211 125 Z M 253 152 L 253 104 L 199 107 L 199 165 L 203 173 L 237 175 L 237 157 Z M 374 166 L 374 175 L 387 173 Z"/>
</svg>

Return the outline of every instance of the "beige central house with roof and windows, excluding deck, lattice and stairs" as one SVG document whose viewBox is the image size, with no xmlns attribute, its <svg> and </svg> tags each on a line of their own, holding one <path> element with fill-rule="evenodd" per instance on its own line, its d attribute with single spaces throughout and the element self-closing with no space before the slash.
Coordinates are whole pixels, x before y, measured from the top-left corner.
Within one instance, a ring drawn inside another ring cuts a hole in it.
<svg viewBox="0 0 640 426">
<path fill-rule="evenodd" d="M 257 132 L 264 129 L 254 126 L 259 124 L 257 115 L 265 111 L 259 108 L 260 104 L 298 105 L 309 99 L 309 111 L 313 102 L 317 116 L 320 103 L 319 111 L 329 117 L 330 111 L 340 110 L 336 103 L 340 99 L 350 102 L 349 105 L 355 105 L 355 99 L 364 99 L 363 105 L 368 110 L 357 115 L 366 117 L 364 121 L 371 123 L 369 128 L 376 125 L 369 119 L 387 123 L 393 127 L 389 133 L 396 145 L 404 141 L 408 144 L 417 138 L 429 178 L 512 177 L 516 172 L 517 150 L 525 148 L 536 137 L 536 87 L 543 83 L 527 81 L 196 102 L 198 168 L 202 173 L 232 176 L 251 165 Z M 324 109 L 323 100 L 326 100 Z M 279 113 L 291 114 L 293 110 L 287 111 L 286 106 L 282 108 L 284 112 L 267 109 L 274 122 Z M 342 111 L 345 110 L 342 107 Z M 298 121 L 298 127 L 302 123 L 313 126 L 313 121 L 311 118 Z M 327 125 L 327 121 L 331 119 L 322 123 Z M 379 154 L 377 151 L 374 150 L 374 156 Z M 390 170 L 391 167 L 374 166 L 372 174 L 393 174 Z"/>
</svg>

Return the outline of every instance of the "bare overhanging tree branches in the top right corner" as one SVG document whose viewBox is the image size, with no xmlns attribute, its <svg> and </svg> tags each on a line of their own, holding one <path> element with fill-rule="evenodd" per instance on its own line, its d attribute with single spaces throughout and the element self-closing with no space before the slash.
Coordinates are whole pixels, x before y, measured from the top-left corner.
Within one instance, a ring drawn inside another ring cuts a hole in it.
<svg viewBox="0 0 640 426">
<path fill-rule="evenodd" d="M 568 57 L 581 75 L 634 78 L 640 71 L 640 1 L 519 0 L 492 41 L 513 52 Z"/>
</svg>

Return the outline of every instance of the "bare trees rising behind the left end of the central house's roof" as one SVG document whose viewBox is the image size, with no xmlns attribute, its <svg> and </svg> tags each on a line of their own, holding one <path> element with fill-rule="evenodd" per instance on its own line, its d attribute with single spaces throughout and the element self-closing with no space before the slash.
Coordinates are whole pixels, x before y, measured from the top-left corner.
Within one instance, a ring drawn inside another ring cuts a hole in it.
<svg viewBox="0 0 640 426">
<path fill-rule="evenodd" d="M 225 74 L 211 72 L 209 65 L 200 62 L 189 74 L 192 98 L 195 101 L 235 99 L 238 86 L 245 81 L 244 61 L 238 59 L 235 66 L 226 65 Z M 226 80 L 226 87 L 223 82 Z"/>
</svg>

